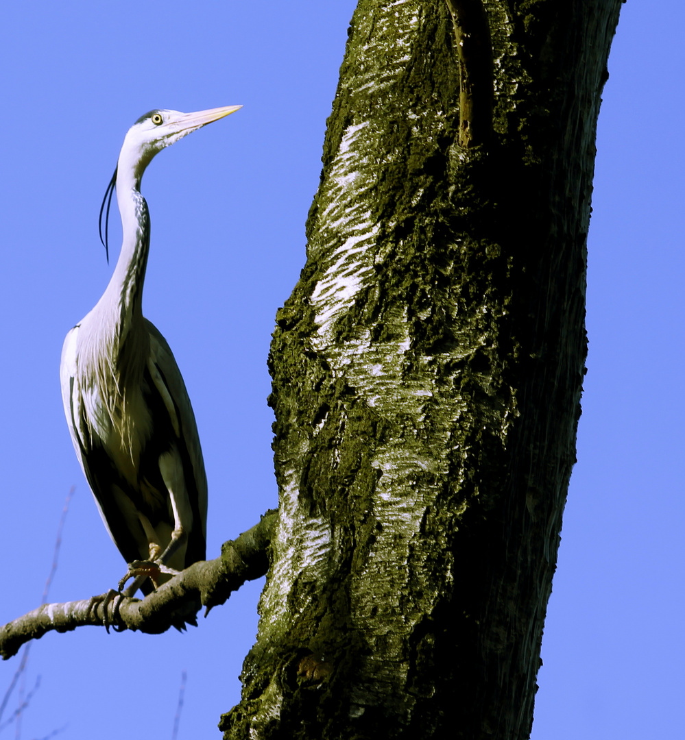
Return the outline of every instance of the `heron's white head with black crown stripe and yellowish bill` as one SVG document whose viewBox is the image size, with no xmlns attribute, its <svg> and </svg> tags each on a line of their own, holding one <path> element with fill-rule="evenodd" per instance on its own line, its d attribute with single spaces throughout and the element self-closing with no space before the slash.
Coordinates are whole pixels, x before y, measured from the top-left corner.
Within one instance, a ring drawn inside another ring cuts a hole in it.
<svg viewBox="0 0 685 740">
<path fill-rule="evenodd" d="M 164 147 L 170 147 L 178 139 L 193 131 L 218 121 L 219 118 L 235 112 L 242 106 L 228 105 L 222 108 L 198 110 L 194 113 L 181 113 L 178 110 L 150 110 L 141 115 L 128 130 L 119 155 L 119 169 L 122 158 L 132 166 L 134 177 L 140 180 L 152 158 Z"/>
</svg>

